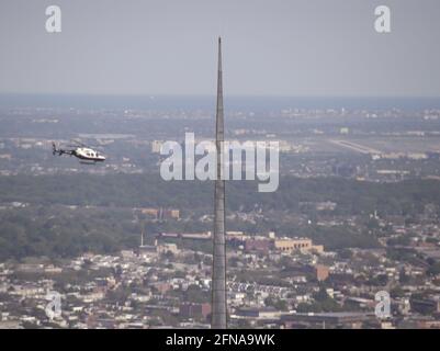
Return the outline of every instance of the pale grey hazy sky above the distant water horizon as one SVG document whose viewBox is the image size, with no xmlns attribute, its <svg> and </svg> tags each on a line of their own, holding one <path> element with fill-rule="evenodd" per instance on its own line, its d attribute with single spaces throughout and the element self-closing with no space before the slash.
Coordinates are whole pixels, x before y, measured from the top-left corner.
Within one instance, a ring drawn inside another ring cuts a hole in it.
<svg viewBox="0 0 440 351">
<path fill-rule="evenodd" d="M 0 92 L 214 94 L 221 34 L 225 94 L 440 95 L 439 18 L 439 0 L 1 0 Z"/>
</svg>

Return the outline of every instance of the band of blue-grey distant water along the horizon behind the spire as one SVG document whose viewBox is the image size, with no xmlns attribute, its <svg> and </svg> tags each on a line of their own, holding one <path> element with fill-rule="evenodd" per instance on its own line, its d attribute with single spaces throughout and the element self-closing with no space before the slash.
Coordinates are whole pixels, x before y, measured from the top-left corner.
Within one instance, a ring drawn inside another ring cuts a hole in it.
<svg viewBox="0 0 440 351">
<path fill-rule="evenodd" d="M 215 97 L 171 95 L 79 95 L 79 94 L 0 94 L 0 107 L 76 107 L 115 110 L 213 110 Z M 230 111 L 280 111 L 284 109 L 368 109 L 393 107 L 417 111 L 440 109 L 439 98 L 295 98 L 295 97 L 228 97 Z"/>
</svg>

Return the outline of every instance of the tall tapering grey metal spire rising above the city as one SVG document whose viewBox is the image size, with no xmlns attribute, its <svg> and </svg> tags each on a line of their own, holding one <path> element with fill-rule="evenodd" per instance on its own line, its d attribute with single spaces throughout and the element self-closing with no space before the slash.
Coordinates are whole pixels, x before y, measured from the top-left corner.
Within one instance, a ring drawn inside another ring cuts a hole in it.
<svg viewBox="0 0 440 351">
<path fill-rule="evenodd" d="M 225 180 L 223 141 L 223 82 L 222 82 L 222 39 L 218 37 L 217 112 L 215 117 L 215 145 L 217 148 L 217 177 L 214 191 L 214 236 L 213 236 L 213 278 L 212 278 L 212 320 L 211 328 L 226 329 L 226 245 L 225 245 Z"/>
</svg>

